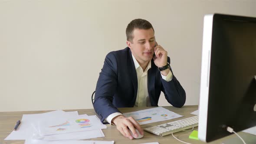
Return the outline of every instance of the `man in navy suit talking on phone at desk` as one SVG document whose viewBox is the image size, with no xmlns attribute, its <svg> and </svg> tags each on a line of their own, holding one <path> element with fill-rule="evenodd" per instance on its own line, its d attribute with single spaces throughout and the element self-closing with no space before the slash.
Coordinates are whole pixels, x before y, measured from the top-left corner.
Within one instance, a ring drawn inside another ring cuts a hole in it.
<svg viewBox="0 0 256 144">
<path fill-rule="evenodd" d="M 143 130 L 134 118 L 126 118 L 117 108 L 158 106 L 160 93 L 174 107 L 181 108 L 186 93 L 174 76 L 167 51 L 158 45 L 154 29 L 147 20 L 132 20 L 126 28 L 125 49 L 109 52 L 100 72 L 94 109 L 101 121 L 115 124 L 125 137 L 128 129 Z"/>
</svg>

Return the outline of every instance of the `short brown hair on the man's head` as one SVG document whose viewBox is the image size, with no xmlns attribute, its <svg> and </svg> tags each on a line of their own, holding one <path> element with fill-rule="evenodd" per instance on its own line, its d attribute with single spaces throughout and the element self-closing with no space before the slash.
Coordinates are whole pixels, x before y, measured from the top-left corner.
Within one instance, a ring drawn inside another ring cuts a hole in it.
<svg viewBox="0 0 256 144">
<path fill-rule="evenodd" d="M 147 20 L 143 20 L 143 19 L 132 20 L 126 28 L 127 41 L 132 42 L 134 29 L 151 29 L 151 28 L 154 31 L 153 26 Z"/>
</svg>

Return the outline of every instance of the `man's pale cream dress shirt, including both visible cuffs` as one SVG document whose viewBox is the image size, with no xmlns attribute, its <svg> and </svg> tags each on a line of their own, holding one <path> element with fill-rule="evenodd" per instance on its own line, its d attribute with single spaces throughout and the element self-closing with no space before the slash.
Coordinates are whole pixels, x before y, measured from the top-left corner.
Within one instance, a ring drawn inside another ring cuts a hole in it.
<svg viewBox="0 0 256 144">
<path fill-rule="evenodd" d="M 132 55 L 132 54 L 131 54 Z M 151 106 L 150 98 L 148 95 L 148 69 L 151 69 L 151 61 L 148 62 L 148 65 L 143 72 L 143 69 L 141 68 L 138 61 L 135 59 L 135 57 L 132 55 L 132 59 L 135 65 L 136 73 L 137 73 L 137 79 L 138 79 L 138 91 L 137 91 L 137 98 L 135 101 L 135 107 L 146 107 Z M 172 80 L 172 72 L 170 71 L 167 76 L 162 75 L 162 79 L 164 79 L 167 82 L 170 82 Z M 111 115 L 108 115 L 107 118 L 105 118 L 105 121 L 108 121 L 109 124 L 111 124 L 111 121 L 113 118 L 115 118 L 118 115 L 122 115 L 120 112 L 115 112 Z"/>
</svg>

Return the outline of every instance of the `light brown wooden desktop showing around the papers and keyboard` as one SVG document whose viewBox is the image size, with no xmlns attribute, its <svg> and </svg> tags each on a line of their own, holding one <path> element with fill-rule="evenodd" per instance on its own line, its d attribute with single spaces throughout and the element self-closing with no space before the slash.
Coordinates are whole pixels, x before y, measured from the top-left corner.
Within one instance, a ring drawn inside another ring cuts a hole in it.
<svg viewBox="0 0 256 144">
<path fill-rule="evenodd" d="M 149 107 L 147 107 L 149 108 Z M 123 113 L 125 112 L 131 112 L 131 111 L 138 111 L 138 110 L 143 110 L 147 109 L 146 107 L 144 108 L 119 108 L 119 110 Z M 174 108 L 174 107 L 164 107 L 167 108 L 170 111 L 173 111 L 177 114 L 184 115 L 182 118 L 187 118 L 194 116 L 190 114 L 190 112 L 193 112 L 198 109 L 198 106 L 184 106 L 182 108 Z M 79 115 L 82 114 L 87 114 L 87 115 L 96 115 L 94 109 L 82 109 L 82 110 L 65 110 L 65 111 L 78 111 Z M 44 113 L 48 111 L 17 111 L 17 112 L 0 112 L 0 144 L 24 144 L 24 141 L 4 141 L 3 139 L 7 137 L 11 131 L 13 131 L 14 125 L 16 124 L 17 120 L 21 120 L 23 114 L 39 114 L 39 113 Z M 162 123 L 167 123 L 170 121 L 176 121 L 182 118 L 175 118 L 172 120 L 168 121 L 160 121 L 160 122 L 155 122 L 151 124 L 144 124 L 141 125 L 142 128 L 147 128 L 150 126 L 162 124 Z M 115 128 L 114 125 L 107 124 L 107 129 L 103 129 L 102 131 L 105 134 L 105 137 L 100 137 L 100 138 L 94 138 L 91 140 L 95 141 L 115 141 L 115 144 L 140 144 L 140 143 L 148 143 L 148 142 L 159 142 L 159 144 L 182 144 L 181 142 L 177 141 L 172 137 L 171 135 L 167 135 L 164 137 L 154 135 L 151 133 L 148 133 L 144 131 L 144 137 L 141 139 L 134 139 L 130 140 L 126 137 L 123 137 L 121 133 Z M 197 130 L 197 127 L 195 128 Z M 188 136 L 190 135 L 191 132 L 177 132 L 174 133 L 174 136 L 176 136 L 178 139 L 181 141 L 186 141 L 191 144 L 206 144 L 204 142 L 198 141 L 198 140 L 193 140 L 189 139 Z M 240 132 L 241 134 L 243 132 Z M 221 144 L 223 140 L 226 138 L 233 138 L 236 137 L 234 134 L 228 137 L 225 137 L 223 139 L 213 141 L 208 144 Z M 237 138 L 237 141 L 240 141 L 240 139 Z"/>
</svg>

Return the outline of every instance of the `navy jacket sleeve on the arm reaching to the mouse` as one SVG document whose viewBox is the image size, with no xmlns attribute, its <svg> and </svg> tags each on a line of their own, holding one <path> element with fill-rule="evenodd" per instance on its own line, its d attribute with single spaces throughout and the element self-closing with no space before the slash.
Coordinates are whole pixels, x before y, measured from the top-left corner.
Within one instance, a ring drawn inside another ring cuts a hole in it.
<svg viewBox="0 0 256 144">
<path fill-rule="evenodd" d="M 112 104 L 113 96 L 117 88 L 118 63 L 115 55 L 110 52 L 105 58 L 102 71 L 99 74 L 95 90 L 95 101 L 93 104 L 95 112 L 101 121 L 104 121 L 108 115 L 120 112 Z"/>
</svg>

